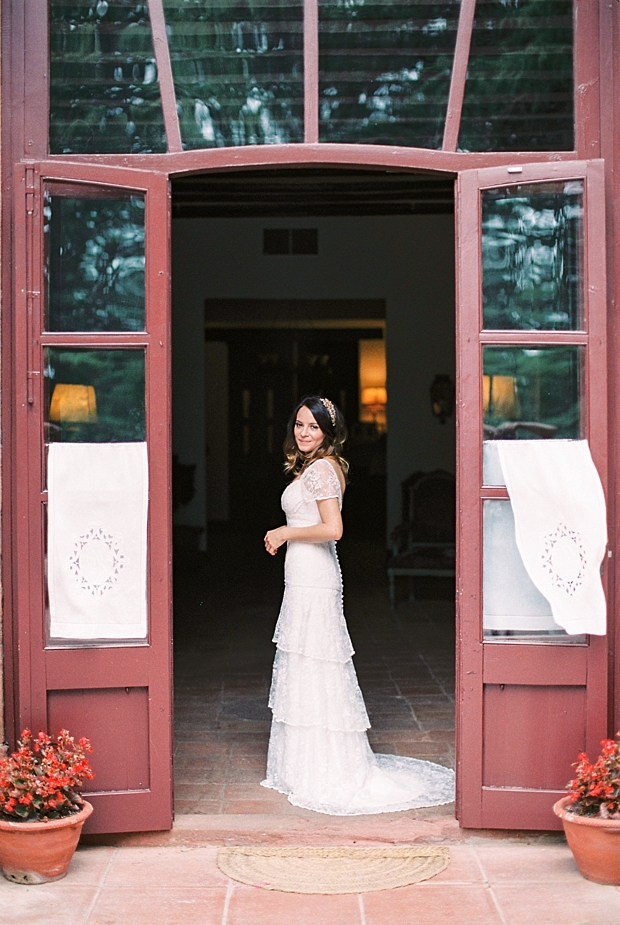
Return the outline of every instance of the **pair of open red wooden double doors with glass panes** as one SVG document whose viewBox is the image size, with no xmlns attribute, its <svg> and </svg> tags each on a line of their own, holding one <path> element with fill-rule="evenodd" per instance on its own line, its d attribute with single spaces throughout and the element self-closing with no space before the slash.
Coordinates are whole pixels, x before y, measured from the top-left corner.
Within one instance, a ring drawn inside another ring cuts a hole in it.
<svg viewBox="0 0 620 925">
<path fill-rule="evenodd" d="M 571 761 L 606 733 L 607 646 L 604 637 L 567 636 L 531 584 L 494 444 L 541 433 L 587 438 L 606 485 L 603 174 L 600 162 L 495 167 L 464 171 L 455 189 L 457 815 L 468 827 L 548 829 Z M 91 831 L 165 829 L 173 818 L 169 177 L 54 160 L 19 167 L 16 190 L 15 725 L 90 736 Z M 96 486 L 79 495 L 84 479 L 77 470 L 72 478 L 71 465 L 107 465 L 112 445 L 122 447 L 118 459 L 146 453 L 136 486 L 148 491 L 142 532 L 126 510 L 118 536 L 114 523 L 98 526 L 105 511 L 93 514 L 94 533 L 73 518 L 72 504 L 88 506 Z M 63 565 L 56 546 L 72 528 Z M 119 566 L 123 542 L 138 557 L 133 571 L 129 559 Z M 96 619 L 72 604 L 71 576 Z M 133 613 L 112 587 L 121 579 L 133 582 Z"/>
</svg>

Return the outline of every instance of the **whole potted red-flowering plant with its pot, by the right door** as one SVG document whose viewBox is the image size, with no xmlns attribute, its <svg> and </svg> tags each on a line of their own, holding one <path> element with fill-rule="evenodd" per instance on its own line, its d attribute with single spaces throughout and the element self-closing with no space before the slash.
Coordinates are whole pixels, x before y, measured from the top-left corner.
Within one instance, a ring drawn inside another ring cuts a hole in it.
<svg viewBox="0 0 620 925">
<path fill-rule="evenodd" d="M 569 795 L 553 811 L 583 876 L 620 886 L 620 733 L 601 745 L 594 763 L 583 752 L 578 756 Z"/>
</svg>

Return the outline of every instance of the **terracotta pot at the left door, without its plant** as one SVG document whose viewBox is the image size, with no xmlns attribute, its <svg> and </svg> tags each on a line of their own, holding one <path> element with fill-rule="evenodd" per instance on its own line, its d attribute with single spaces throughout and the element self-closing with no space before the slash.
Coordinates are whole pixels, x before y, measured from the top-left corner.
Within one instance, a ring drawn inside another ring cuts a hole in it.
<svg viewBox="0 0 620 925">
<path fill-rule="evenodd" d="M 49 822 L 0 819 L 0 868 L 6 879 L 30 884 L 64 877 L 92 811 L 84 802 L 79 813 Z"/>
</svg>

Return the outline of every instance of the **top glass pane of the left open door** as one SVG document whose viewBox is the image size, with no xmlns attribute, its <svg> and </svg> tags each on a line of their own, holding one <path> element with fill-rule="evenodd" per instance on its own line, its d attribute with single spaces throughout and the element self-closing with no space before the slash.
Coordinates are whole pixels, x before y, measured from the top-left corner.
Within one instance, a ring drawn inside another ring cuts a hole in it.
<svg viewBox="0 0 620 925">
<path fill-rule="evenodd" d="M 46 330 L 143 331 L 144 196 L 48 191 L 44 231 Z"/>
</svg>

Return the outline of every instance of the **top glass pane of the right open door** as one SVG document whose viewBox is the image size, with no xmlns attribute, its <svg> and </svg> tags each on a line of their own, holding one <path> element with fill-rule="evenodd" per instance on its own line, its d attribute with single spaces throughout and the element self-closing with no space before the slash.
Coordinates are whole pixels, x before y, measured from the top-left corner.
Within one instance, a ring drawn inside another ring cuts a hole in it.
<svg viewBox="0 0 620 925">
<path fill-rule="evenodd" d="M 579 330 L 583 241 L 582 180 L 484 190 L 484 327 Z"/>
</svg>

